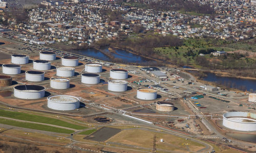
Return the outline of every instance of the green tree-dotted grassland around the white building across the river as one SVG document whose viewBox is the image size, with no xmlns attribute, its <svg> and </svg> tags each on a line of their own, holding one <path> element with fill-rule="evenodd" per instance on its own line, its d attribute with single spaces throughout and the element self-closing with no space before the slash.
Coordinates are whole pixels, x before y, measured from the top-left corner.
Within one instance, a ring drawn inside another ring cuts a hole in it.
<svg viewBox="0 0 256 153">
<path fill-rule="evenodd" d="M 253 43 L 255 39 L 251 39 L 248 41 L 241 41 L 241 42 L 233 42 L 233 41 L 226 41 L 222 39 L 213 39 L 213 38 L 201 38 L 201 39 L 193 39 L 189 38 L 184 40 L 183 45 L 178 47 L 156 47 L 155 53 L 167 56 L 170 59 L 179 59 L 185 65 L 193 65 L 197 68 L 201 68 L 200 65 L 196 62 L 196 57 L 199 55 L 199 51 L 201 49 L 215 49 L 215 50 L 224 50 L 225 52 L 232 51 L 232 50 L 248 50 L 251 52 L 255 52 L 256 44 Z M 189 50 L 191 52 L 189 53 Z M 193 53 L 193 54 L 191 54 Z M 205 55 L 209 61 L 220 61 L 217 57 L 210 57 L 210 55 Z M 225 62 L 225 60 L 223 60 Z M 247 64 L 241 64 L 241 63 Z M 239 58 L 234 60 L 234 67 L 247 67 L 248 63 L 252 63 L 253 59 L 247 58 Z M 230 67 L 232 68 L 232 67 Z"/>
</svg>

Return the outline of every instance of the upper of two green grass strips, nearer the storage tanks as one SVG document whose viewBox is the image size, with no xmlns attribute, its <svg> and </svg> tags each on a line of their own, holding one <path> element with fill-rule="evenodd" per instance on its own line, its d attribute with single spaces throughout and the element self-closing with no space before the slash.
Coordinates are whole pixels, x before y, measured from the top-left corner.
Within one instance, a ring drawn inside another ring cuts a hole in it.
<svg viewBox="0 0 256 153">
<path fill-rule="evenodd" d="M 22 112 L 13 112 L 13 111 L 5 111 L 0 110 L 0 116 L 3 117 L 9 117 L 13 119 L 20 119 L 20 120 L 26 120 L 26 121 L 32 121 L 32 122 L 38 122 L 38 123 L 47 123 L 47 124 L 53 124 L 63 127 L 69 127 L 76 130 L 82 130 L 86 129 L 85 126 L 80 126 L 76 124 L 72 124 L 69 122 L 65 122 L 59 119 L 45 117 L 45 116 L 39 116 L 39 115 L 33 115 L 33 114 L 27 114 Z"/>
</svg>

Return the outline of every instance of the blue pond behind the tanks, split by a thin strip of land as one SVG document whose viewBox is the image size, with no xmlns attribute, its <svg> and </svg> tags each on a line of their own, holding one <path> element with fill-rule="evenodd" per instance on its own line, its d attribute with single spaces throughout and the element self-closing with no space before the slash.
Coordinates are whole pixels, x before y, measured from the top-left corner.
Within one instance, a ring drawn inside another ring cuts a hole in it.
<svg viewBox="0 0 256 153">
<path fill-rule="evenodd" d="M 110 52 L 108 47 L 104 47 L 101 49 L 104 50 L 105 53 L 114 56 L 114 58 L 122 60 L 124 63 L 143 63 L 143 62 L 152 61 L 150 59 L 143 58 L 141 56 L 126 52 L 125 50 L 122 50 L 122 49 L 115 48 L 114 49 L 115 53 Z M 99 50 L 96 50 L 94 48 L 78 49 L 78 50 L 73 50 L 72 52 L 76 54 L 100 59 L 103 61 L 111 61 L 111 58 L 109 58 L 108 56 L 104 55 Z"/>
</svg>

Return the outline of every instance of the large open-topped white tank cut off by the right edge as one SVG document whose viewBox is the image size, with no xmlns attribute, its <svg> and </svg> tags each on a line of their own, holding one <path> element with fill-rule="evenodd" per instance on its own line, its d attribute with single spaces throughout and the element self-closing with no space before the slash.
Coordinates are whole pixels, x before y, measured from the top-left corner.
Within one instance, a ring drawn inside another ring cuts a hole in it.
<svg viewBox="0 0 256 153">
<path fill-rule="evenodd" d="M 238 131 L 256 131 L 256 114 L 227 112 L 223 114 L 223 126 Z"/>
</svg>

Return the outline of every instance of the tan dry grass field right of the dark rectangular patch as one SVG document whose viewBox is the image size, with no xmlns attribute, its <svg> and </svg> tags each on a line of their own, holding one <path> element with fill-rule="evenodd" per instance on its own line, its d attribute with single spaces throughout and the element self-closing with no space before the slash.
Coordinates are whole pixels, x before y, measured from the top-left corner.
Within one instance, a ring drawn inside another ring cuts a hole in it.
<svg viewBox="0 0 256 153">
<path fill-rule="evenodd" d="M 123 144 L 127 147 L 137 146 L 138 148 L 152 149 L 154 135 L 156 135 L 156 149 L 160 152 L 164 150 L 193 152 L 204 148 L 201 144 L 173 135 L 139 129 L 123 130 L 107 142 L 111 144 Z M 160 139 L 163 139 L 163 142 L 160 142 Z"/>
</svg>

